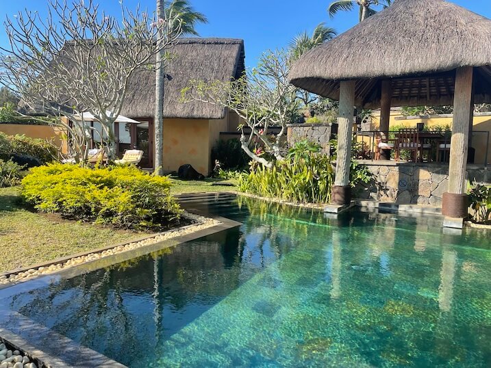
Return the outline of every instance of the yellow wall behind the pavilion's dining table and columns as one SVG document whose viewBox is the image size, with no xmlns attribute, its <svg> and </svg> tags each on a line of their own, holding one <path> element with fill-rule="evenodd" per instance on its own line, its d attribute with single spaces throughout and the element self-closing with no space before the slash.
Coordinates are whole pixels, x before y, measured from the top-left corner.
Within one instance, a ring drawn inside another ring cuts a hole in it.
<svg viewBox="0 0 491 368">
<path fill-rule="evenodd" d="M 451 114 L 445 114 L 442 116 L 422 116 L 422 117 L 406 117 L 399 111 L 390 112 L 390 127 L 416 127 L 416 123 L 424 122 L 427 127 L 436 126 L 452 126 L 453 116 Z M 371 131 L 379 129 L 380 115 L 375 114 L 372 118 Z M 491 114 L 478 114 L 474 116 L 473 130 L 490 132 L 491 136 Z M 474 133 L 473 135 L 473 147 L 476 149 L 475 162 L 483 163 L 484 156 L 486 155 L 486 133 Z M 488 162 L 491 162 L 491 142 L 490 150 L 488 152 Z"/>
</svg>

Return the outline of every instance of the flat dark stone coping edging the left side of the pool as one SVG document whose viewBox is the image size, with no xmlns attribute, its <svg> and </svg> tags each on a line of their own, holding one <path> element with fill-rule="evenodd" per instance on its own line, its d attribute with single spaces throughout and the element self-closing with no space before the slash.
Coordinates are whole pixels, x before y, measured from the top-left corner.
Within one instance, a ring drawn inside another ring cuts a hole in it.
<svg viewBox="0 0 491 368">
<path fill-rule="evenodd" d="M 221 194 L 234 195 L 234 193 L 203 193 L 196 194 L 194 196 L 179 196 L 179 198 L 197 198 L 199 196 L 212 195 L 219 196 Z M 140 239 L 139 241 L 131 241 L 127 244 L 118 244 L 116 246 L 109 246 L 99 250 L 85 252 L 85 256 L 99 252 L 101 257 L 88 258 L 84 262 L 71 264 L 64 268 L 58 268 L 49 274 L 37 274 L 30 278 L 15 280 L 14 282 L 8 282 L 6 284 L 4 283 L 3 285 L 0 285 L 0 292 L 15 295 L 16 293 L 26 291 L 29 288 L 34 289 L 49 285 L 49 282 L 51 282 L 53 278 L 72 278 L 86 272 L 99 270 L 104 267 L 110 267 L 114 264 L 140 257 L 144 254 L 158 252 L 159 250 L 178 246 L 179 244 L 186 243 L 187 241 L 199 239 L 201 237 L 212 235 L 214 233 L 241 225 L 240 222 L 222 218 L 217 215 L 208 215 L 207 217 L 204 217 L 198 214 L 201 211 L 193 212 L 194 213 L 187 214 L 194 219 L 201 218 L 201 220 L 203 220 L 205 223 L 191 224 L 181 228 L 171 229 L 158 235 L 150 235 Z M 158 238 L 159 236 L 168 234 L 171 234 L 171 236 L 168 236 L 165 239 Z M 158 239 L 155 240 L 155 238 Z M 116 252 L 113 252 L 112 254 L 105 253 L 102 255 L 103 252 L 108 250 L 114 250 L 121 246 L 124 248 L 124 246 L 128 244 L 148 240 L 150 241 L 134 248 L 120 249 L 116 250 Z M 57 259 L 44 263 L 44 265 L 58 264 L 60 261 L 64 261 L 66 263 L 74 257 L 81 257 L 81 255 L 75 254 L 75 256 Z M 33 266 L 26 268 L 32 269 L 32 267 Z M 36 265 L 36 267 L 43 266 Z M 16 272 L 18 273 L 19 270 L 16 270 Z M 57 332 L 50 330 L 49 328 L 40 326 L 20 313 L 8 311 L 6 308 L 2 308 L 2 306 L 0 306 L 0 339 L 5 341 L 5 343 L 18 347 L 18 350 L 27 353 L 29 356 L 32 356 L 38 360 L 38 362 L 42 362 L 42 364 L 46 367 L 125 367 L 125 365 L 122 365 L 121 363 L 118 363 L 115 360 L 104 356 L 103 354 L 95 352 L 88 347 L 84 347 L 63 335 L 58 334 Z M 87 359 L 88 356 L 90 356 L 90 360 Z"/>
</svg>

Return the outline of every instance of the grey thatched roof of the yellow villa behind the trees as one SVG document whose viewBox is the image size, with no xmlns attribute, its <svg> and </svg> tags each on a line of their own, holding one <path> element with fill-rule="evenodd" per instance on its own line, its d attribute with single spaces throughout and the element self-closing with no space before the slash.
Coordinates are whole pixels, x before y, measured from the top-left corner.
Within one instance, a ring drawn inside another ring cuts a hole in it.
<svg viewBox="0 0 491 368">
<path fill-rule="evenodd" d="M 225 109 L 201 102 L 181 103 L 181 90 L 190 79 L 229 81 L 244 72 L 244 41 L 228 38 L 182 38 L 169 50 L 173 54 L 164 83 L 164 118 L 221 119 Z M 131 118 L 155 114 L 155 71 L 138 72 L 131 80 L 121 111 Z"/>
</svg>

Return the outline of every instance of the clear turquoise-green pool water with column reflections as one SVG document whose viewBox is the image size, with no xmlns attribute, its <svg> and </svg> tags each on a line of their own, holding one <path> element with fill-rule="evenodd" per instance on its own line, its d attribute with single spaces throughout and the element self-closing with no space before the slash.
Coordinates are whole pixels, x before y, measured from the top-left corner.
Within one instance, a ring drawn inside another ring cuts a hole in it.
<svg viewBox="0 0 491 368">
<path fill-rule="evenodd" d="M 185 205 L 242 226 L 1 302 L 129 367 L 491 367 L 490 233 Z"/>
</svg>

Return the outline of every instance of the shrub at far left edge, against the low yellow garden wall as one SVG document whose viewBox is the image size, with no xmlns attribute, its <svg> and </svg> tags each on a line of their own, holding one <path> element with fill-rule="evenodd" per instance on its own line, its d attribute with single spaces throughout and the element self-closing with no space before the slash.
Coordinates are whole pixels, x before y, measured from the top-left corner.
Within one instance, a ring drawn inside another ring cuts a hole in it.
<svg viewBox="0 0 491 368">
<path fill-rule="evenodd" d="M 35 157 L 42 163 L 53 161 L 58 150 L 53 144 L 40 138 L 25 135 L 6 135 L 0 132 L 0 159 L 9 160 L 13 155 Z"/>
</svg>

